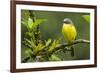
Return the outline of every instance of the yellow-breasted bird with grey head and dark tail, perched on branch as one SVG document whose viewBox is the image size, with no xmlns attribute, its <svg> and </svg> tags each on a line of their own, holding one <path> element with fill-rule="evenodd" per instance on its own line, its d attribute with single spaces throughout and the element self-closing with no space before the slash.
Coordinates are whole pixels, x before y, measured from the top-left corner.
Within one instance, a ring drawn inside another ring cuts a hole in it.
<svg viewBox="0 0 100 73">
<path fill-rule="evenodd" d="M 69 18 L 65 18 L 63 20 L 62 34 L 68 44 L 73 43 L 76 39 L 77 31 L 73 22 Z M 71 56 L 74 56 L 73 47 L 70 46 L 70 49 L 71 49 Z"/>
</svg>

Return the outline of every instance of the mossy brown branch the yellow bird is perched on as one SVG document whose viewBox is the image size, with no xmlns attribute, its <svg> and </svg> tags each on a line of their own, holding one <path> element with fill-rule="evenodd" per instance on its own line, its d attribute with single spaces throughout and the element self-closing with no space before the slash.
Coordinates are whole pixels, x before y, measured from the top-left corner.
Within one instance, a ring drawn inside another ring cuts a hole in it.
<svg viewBox="0 0 100 73">
<path fill-rule="evenodd" d="M 85 39 L 77 39 L 75 40 L 73 43 L 69 44 L 69 43 L 64 43 L 64 44 L 59 44 L 55 47 L 54 50 L 52 50 L 49 55 L 52 55 L 53 53 L 55 53 L 56 51 L 62 49 L 62 48 L 65 48 L 65 47 L 68 47 L 68 46 L 72 46 L 72 45 L 75 45 L 75 44 L 79 44 L 79 43 L 85 43 L 85 44 L 90 44 L 90 41 L 89 40 L 85 40 Z M 44 49 L 46 48 L 47 46 L 44 47 Z M 68 50 L 68 51 L 71 51 L 71 50 Z M 30 59 L 30 57 L 26 57 L 22 60 L 22 62 L 27 62 L 28 60 Z"/>
</svg>

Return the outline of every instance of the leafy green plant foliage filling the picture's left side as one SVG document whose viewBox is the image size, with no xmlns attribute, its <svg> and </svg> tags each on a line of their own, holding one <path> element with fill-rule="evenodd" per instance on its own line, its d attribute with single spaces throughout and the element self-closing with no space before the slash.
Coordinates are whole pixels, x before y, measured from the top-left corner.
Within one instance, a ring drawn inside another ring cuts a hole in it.
<svg viewBox="0 0 100 73">
<path fill-rule="evenodd" d="M 25 32 L 24 44 L 28 50 L 26 50 L 27 56 L 29 56 L 34 61 L 46 61 L 46 60 L 60 60 L 55 55 L 50 55 L 49 53 L 59 44 L 59 40 L 44 40 L 41 39 L 41 32 L 39 30 L 39 25 L 46 22 L 46 19 L 32 19 L 30 12 L 24 12 L 24 17 L 22 17 L 22 24 L 27 28 Z M 34 58 L 33 58 L 34 55 Z M 45 56 L 45 57 L 44 57 Z M 49 57 L 48 57 L 49 56 Z M 43 58 L 46 58 L 45 60 Z"/>
</svg>

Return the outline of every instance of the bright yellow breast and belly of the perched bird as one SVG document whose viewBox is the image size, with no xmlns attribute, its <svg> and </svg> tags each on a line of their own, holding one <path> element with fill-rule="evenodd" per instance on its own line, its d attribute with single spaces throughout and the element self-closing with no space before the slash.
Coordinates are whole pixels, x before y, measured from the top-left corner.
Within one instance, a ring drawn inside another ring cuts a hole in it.
<svg viewBox="0 0 100 73">
<path fill-rule="evenodd" d="M 77 36 L 76 29 L 74 25 L 71 24 L 63 24 L 62 34 L 68 43 L 72 43 Z"/>
</svg>

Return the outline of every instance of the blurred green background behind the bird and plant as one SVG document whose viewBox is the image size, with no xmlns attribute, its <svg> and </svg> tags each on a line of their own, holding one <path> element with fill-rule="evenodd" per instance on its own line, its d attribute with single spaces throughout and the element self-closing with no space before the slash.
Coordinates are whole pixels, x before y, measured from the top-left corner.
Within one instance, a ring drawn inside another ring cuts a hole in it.
<svg viewBox="0 0 100 73">
<path fill-rule="evenodd" d="M 21 14 L 23 17 L 23 12 L 27 10 L 22 10 Z M 76 13 L 76 12 L 56 12 L 56 11 L 33 11 L 37 19 L 46 19 L 47 21 L 40 25 L 40 31 L 42 34 L 42 39 L 47 40 L 49 38 L 57 39 L 62 37 L 61 43 L 65 43 L 65 39 L 61 33 L 62 21 L 64 18 L 69 18 L 73 21 L 77 29 L 77 39 L 90 40 L 90 20 L 84 16 L 90 16 L 89 13 Z M 26 27 L 21 25 L 21 41 L 23 41 L 24 33 L 26 32 Z M 25 47 L 21 47 L 21 59 L 26 57 Z M 58 57 L 64 60 L 87 60 L 90 59 L 90 45 L 89 44 L 77 44 L 74 45 L 75 56 L 71 57 L 69 52 L 57 52 Z"/>
</svg>

